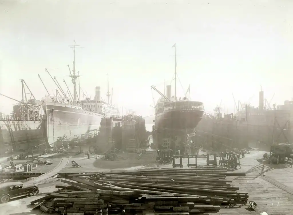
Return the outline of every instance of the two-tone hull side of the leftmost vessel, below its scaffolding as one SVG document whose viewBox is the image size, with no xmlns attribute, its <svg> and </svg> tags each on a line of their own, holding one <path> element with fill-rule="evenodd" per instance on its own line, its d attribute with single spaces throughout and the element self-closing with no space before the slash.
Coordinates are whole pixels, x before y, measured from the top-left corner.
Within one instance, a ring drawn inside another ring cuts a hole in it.
<svg viewBox="0 0 293 215">
<path fill-rule="evenodd" d="M 25 150 L 39 144 L 40 138 L 45 136 L 45 121 L 1 120 L 0 142 L 1 149 Z M 11 131 L 9 131 L 11 127 Z M 13 146 L 14 145 L 14 146 Z"/>
</svg>

